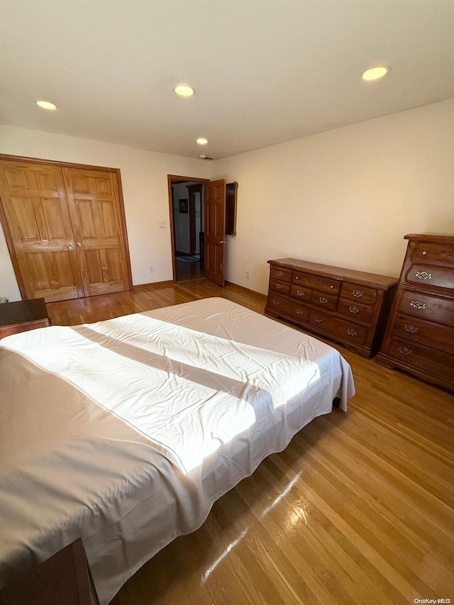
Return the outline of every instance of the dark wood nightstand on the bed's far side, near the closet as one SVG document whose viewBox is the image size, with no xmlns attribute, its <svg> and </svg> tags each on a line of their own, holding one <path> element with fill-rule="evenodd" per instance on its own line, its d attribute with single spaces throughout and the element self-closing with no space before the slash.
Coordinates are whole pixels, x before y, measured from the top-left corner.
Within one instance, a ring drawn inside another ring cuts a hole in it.
<svg viewBox="0 0 454 605">
<path fill-rule="evenodd" d="M 50 326 L 44 299 L 0 304 L 0 338 Z"/>
</svg>

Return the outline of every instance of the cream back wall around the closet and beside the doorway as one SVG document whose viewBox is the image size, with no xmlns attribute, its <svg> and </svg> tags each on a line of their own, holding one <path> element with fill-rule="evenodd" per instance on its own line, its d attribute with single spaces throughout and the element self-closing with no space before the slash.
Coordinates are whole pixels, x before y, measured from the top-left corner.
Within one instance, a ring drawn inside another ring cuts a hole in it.
<svg viewBox="0 0 454 605">
<path fill-rule="evenodd" d="M 167 174 L 209 178 L 210 162 L 1 125 L 0 153 L 119 168 L 133 284 L 172 279 Z M 159 223 L 165 223 L 165 229 Z M 1 296 L 20 299 L 3 233 L 0 280 Z"/>
</svg>

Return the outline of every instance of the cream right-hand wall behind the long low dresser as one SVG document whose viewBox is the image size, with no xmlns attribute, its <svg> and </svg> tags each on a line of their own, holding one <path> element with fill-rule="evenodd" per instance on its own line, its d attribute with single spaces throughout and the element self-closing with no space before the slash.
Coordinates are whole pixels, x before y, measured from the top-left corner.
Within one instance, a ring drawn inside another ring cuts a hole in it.
<svg viewBox="0 0 454 605">
<path fill-rule="evenodd" d="M 454 99 L 211 165 L 238 181 L 226 279 L 258 292 L 272 258 L 394 277 L 406 233 L 454 233 Z"/>
</svg>

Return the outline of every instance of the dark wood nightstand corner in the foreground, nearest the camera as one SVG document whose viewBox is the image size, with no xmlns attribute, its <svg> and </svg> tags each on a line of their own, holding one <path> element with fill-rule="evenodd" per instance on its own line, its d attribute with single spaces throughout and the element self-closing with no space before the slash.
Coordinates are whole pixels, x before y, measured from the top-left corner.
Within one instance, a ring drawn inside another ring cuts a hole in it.
<svg viewBox="0 0 454 605">
<path fill-rule="evenodd" d="M 82 540 L 0 590 L 1 605 L 99 605 Z"/>
</svg>

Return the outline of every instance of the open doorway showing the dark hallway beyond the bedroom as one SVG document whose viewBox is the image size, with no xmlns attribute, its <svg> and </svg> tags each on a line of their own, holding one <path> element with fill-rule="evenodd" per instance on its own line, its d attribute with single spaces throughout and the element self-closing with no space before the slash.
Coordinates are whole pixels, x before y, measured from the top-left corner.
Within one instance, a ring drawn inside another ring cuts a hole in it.
<svg viewBox="0 0 454 605">
<path fill-rule="evenodd" d="M 169 175 L 175 282 L 204 277 L 204 196 L 207 179 Z"/>
</svg>

